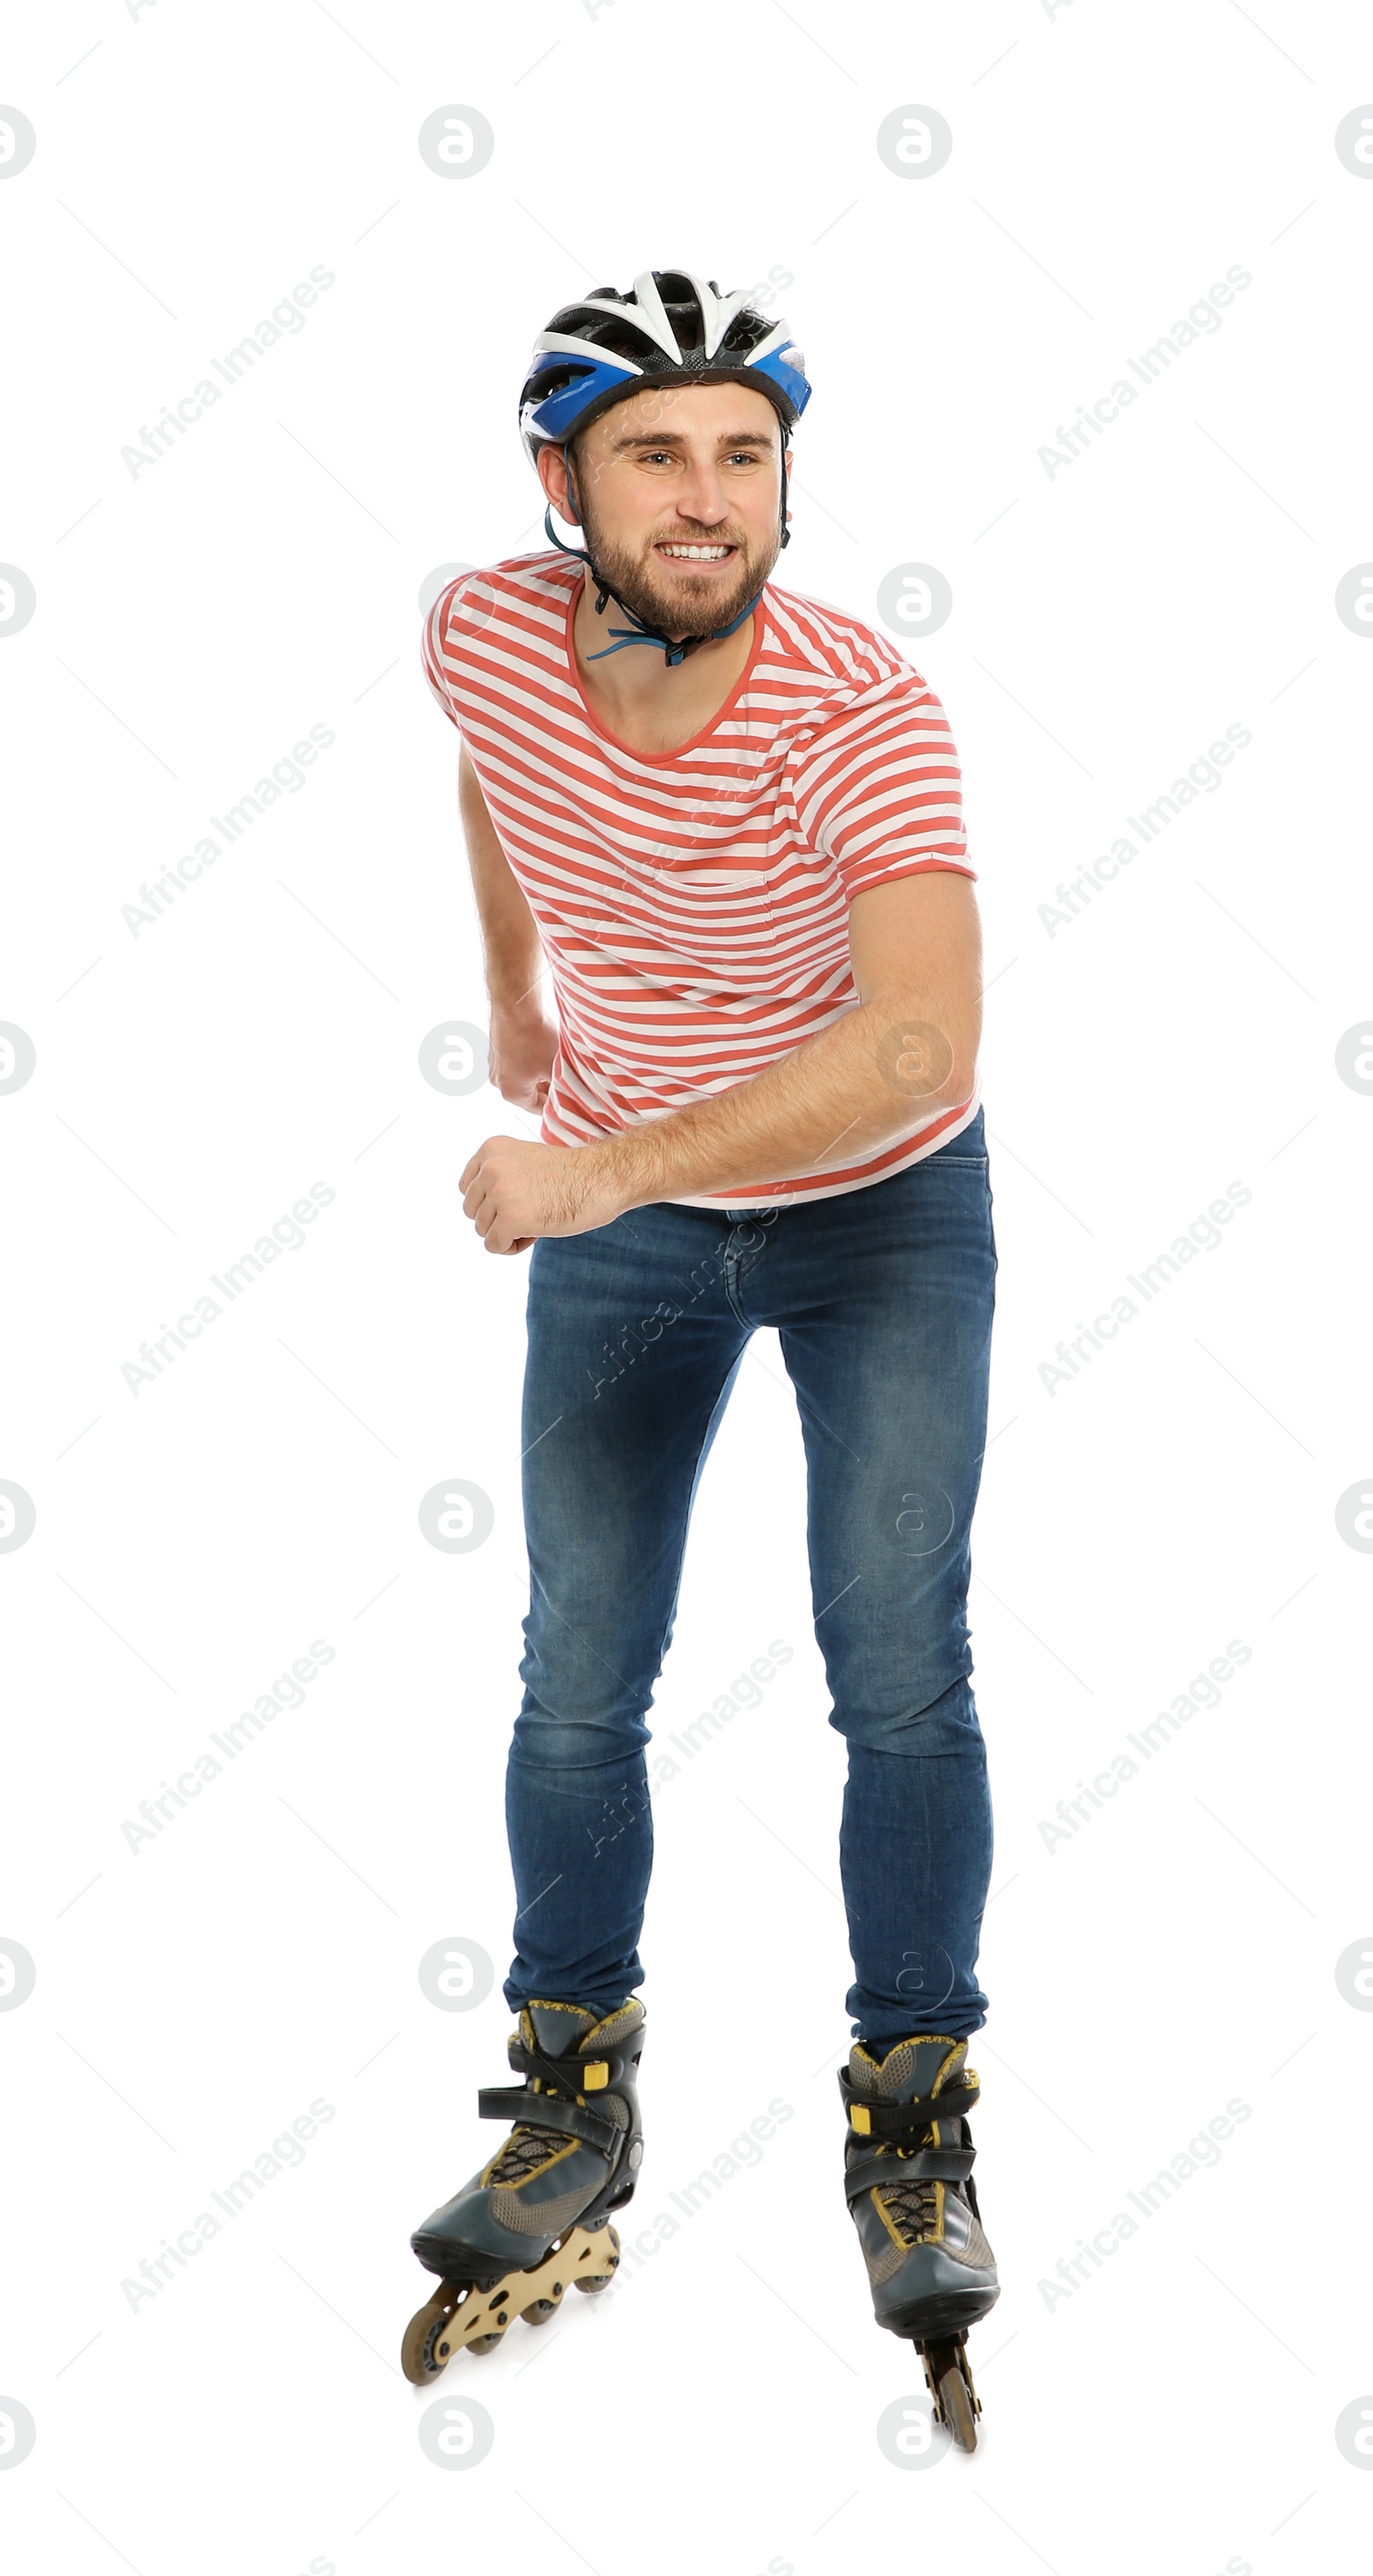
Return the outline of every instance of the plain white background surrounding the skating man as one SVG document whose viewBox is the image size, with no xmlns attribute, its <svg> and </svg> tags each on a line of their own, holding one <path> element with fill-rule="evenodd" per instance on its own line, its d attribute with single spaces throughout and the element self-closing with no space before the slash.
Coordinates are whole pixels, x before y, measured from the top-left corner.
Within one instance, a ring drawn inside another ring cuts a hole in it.
<svg viewBox="0 0 1373 2576">
<path fill-rule="evenodd" d="M 0 1476 L 36 1504 L 0 1558 L 0 1935 L 39 1971 L 0 2014 L 0 2393 L 36 2424 L 0 2476 L 8 2563 L 1363 2563 L 1373 2478 L 1334 2442 L 1373 2391 L 1373 2020 L 1334 1984 L 1373 1917 L 1373 1569 L 1334 1517 L 1373 1468 L 1373 1105 L 1334 1066 L 1370 1005 L 1373 647 L 1334 613 L 1373 554 L 1373 183 L 1334 152 L 1373 98 L 1363 13 L 85 0 L 28 13 L 3 80 L 39 137 L 0 185 L 0 556 L 36 590 L 0 639 L 0 1015 L 36 1046 L 0 1097 Z M 446 103 L 495 131 L 464 180 L 417 152 Z M 922 180 L 876 152 L 909 103 L 953 129 Z M 1231 263 L 1224 327 L 1048 477 L 1038 448 Z M 307 327 L 131 474 L 121 448 L 312 265 L 335 286 Z M 484 1023 L 417 595 L 538 544 L 533 332 L 644 265 L 788 278 L 817 394 L 786 587 L 873 623 L 899 564 L 953 587 L 899 641 L 953 724 L 987 935 L 974 2063 L 1005 2290 L 981 2450 L 925 2473 L 876 2439 L 920 2367 L 871 2321 L 840 2184 L 842 1744 L 770 1334 L 654 1723 L 775 1636 L 793 1662 L 659 1798 L 634 2218 L 768 2099 L 793 2115 L 603 2300 L 438 2391 L 397 2367 L 410 2228 L 489 2154 L 474 2092 L 507 2081 L 526 1607 L 526 1267 L 482 1252 L 456 1172 L 531 1123 L 417 1069 L 446 1012 Z M 134 938 L 139 884 L 312 724 L 337 742 L 307 786 Z M 1051 938 L 1056 884 L 1229 724 L 1252 744 L 1224 786 Z M 312 1182 L 335 1203 L 304 1247 L 131 1394 L 139 1342 Z M 1229 1182 L 1224 1244 L 1048 1394 L 1054 1345 Z M 417 1522 L 453 1476 L 495 1504 L 466 1556 Z M 131 1852 L 124 1819 L 314 1638 L 304 1705 Z M 1229 1638 L 1252 1656 L 1221 1705 L 1046 1850 Z M 446 1937 L 497 1965 L 469 2014 L 417 1984 Z M 1051 2306 L 1231 2097 L 1221 2161 Z M 131 2308 L 121 2282 L 312 2099 L 304 2161 Z M 435 2393 L 495 2424 L 464 2473 L 420 2447 Z"/>
</svg>

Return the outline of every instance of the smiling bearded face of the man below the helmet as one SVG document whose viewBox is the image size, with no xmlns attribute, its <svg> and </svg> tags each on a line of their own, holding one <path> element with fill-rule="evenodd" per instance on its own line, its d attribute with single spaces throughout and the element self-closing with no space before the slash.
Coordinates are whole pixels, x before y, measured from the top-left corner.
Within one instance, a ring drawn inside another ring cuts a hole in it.
<svg viewBox="0 0 1373 2576">
<path fill-rule="evenodd" d="M 631 616 L 680 641 L 729 626 L 781 554 L 781 422 L 742 384 L 652 386 L 577 440 L 572 484 L 587 546 Z M 559 515 L 567 466 L 538 474 Z"/>
</svg>

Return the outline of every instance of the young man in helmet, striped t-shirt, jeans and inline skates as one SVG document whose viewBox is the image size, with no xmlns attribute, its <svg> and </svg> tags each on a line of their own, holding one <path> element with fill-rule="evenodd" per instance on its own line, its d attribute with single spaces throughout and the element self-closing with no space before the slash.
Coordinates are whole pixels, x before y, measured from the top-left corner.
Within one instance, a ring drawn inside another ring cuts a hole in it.
<svg viewBox="0 0 1373 2576">
<path fill-rule="evenodd" d="M 701 1468 L 773 1324 L 847 1739 L 847 2200 L 878 2321 L 971 2447 L 963 2331 L 997 2298 L 963 2117 L 992 1865 L 966 1628 L 997 1273 L 981 948 L 940 701 L 873 629 L 768 585 L 806 399 L 786 322 L 703 278 L 564 307 L 520 430 L 585 554 L 549 510 L 556 551 L 448 585 L 425 626 L 464 742 L 489 1074 L 544 1126 L 461 1175 L 487 1252 L 533 1247 L 505 1984 L 526 2084 L 479 2097 L 510 2141 L 412 2239 L 443 2287 L 404 2367 L 613 2272 L 641 2156 L 644 1710 Z"/>
</svg>

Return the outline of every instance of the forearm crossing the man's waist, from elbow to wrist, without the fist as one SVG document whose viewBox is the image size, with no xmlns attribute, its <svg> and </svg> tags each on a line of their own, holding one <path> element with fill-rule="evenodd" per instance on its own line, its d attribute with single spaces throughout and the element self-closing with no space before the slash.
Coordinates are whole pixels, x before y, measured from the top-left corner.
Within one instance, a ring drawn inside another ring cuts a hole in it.
<svg viewBox="0 0 1373 2576">
<path fill-rule="evenodd" d="M 943 1015 L 948 1018 L 948 1012 Z M 953 1043 L 930 994 L 878 994 L 762 1074 L 711 1100 L 577 1146 L 621 1208 L 863 1162 L 891 1136 L 971 1097 L 976 1036 Z"/>
</svg>

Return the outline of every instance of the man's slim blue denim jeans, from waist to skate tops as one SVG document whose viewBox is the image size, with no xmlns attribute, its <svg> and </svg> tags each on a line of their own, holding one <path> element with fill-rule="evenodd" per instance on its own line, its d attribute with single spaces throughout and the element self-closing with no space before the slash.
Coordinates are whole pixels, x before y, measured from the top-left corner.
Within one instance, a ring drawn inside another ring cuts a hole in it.
<svg viewBox="0 0 1373 2576">
<path fill-rule="evenodd" d="M 701 1468 L 770 1324 L 801 1406 L 829 1726 L 847 1739 L 855 2038 L 981 2027 L 992 1801 L 966 1589 L 994 1275 L 981 1110 L 925 1162 L 837 1198 L 737 1221 L 659 1200 L 533 1244 L 510 2009 L 544 1996 L 603 2014 L 644 1978 L 644 1710 Z"/>
</svg>

